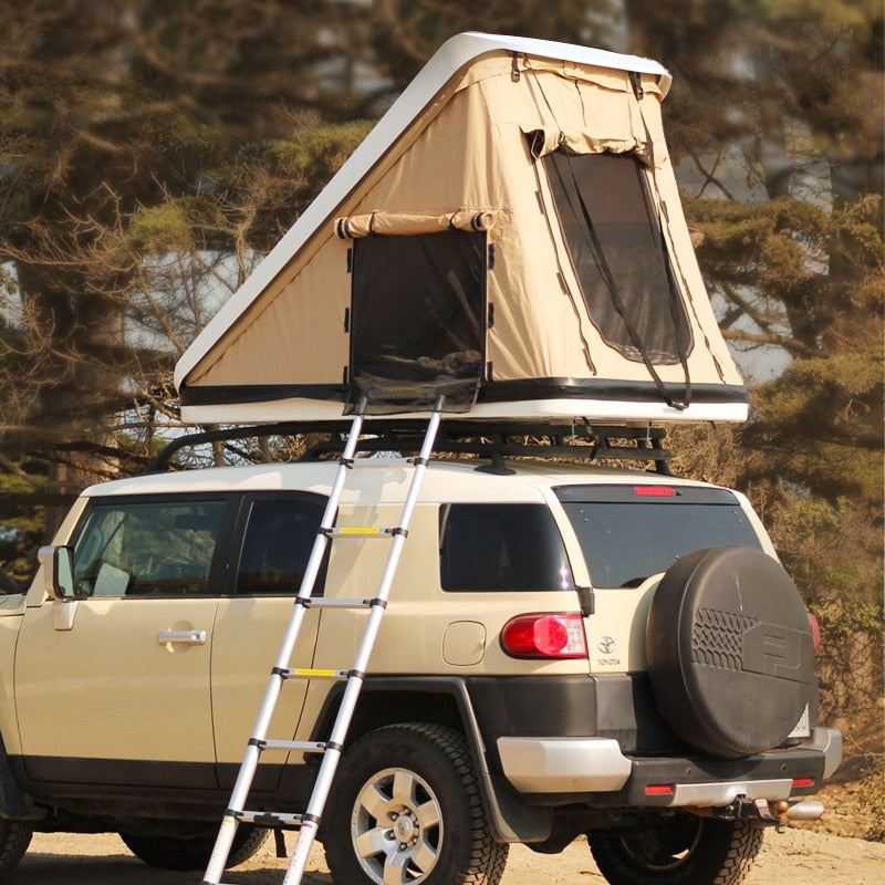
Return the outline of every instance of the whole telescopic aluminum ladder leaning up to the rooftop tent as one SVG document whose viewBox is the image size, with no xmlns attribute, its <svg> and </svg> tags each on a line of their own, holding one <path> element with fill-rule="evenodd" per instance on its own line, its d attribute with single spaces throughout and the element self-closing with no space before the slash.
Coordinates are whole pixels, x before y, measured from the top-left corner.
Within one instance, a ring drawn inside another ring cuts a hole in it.
<svg viewBox="0 0 885 885">
<path fill-rule="evenodd" d="M 216 837 L 215 847 L 206 867 L 204 885 L 222 885 L 221 876 L 227 866 L 228 857 L 233 845 L 233 837 L 241 823 L 260 823 L 270 827 L 298 827 L 298 841 L 292 851 L 292 857 L 283 876 L 282 885 L 300 885 L 304 870 L 308 864 L 311 846 L 320 826 L 320 819 L 323 814 L 332 781 L 337 769 L 339 760 L 347 737 L 347 730 L 356 709 L 360 691 L 363 687 L 366 667 L 375 646 L 375 641 L 381 628 L 384 610 L 387 606 L 391 585 L 399 564 L 399 556 L 408 535 L 408 525 L 412 520 L 412 512 L 420 490 L 427 464 L 433 454 L 434 442 L 439 429 L 439 420 L 442 412 L 444 397 L 437 398 L 427 430 L 421 442 L 420 452 L 417 458 L 409 459 L 414 466 L 412 482 L 409 483 L 403 510 L 399 516 L 399 524 L 395 528 L 334 528 L 337 513 L 339 501 L 351 469 L 361 466 L 361 459 L 355 458 L 356 446 L 363 429 L 363 416 L 365 414 L 366 400 L 362 398 L 354 413 L 353 424 L 351 425 L 347 439 L 339 460 L 335 479 L 329 494 L 329 500 L 323 512 L 316 539 L 313 542 L 311 554 L 304 570 L 304 577 L 301 582 L 298 596 L 295 597 L 292 614 L 283 634 L 277 660 L 271 670 L 270 679 L 264 691 L 256 723 L 252 728 L 252 736 L 246 748 L 246 752 L 240 763 L 240 770 L 233 790 L 230 795 L 230 804 L 221 820 L 221 826 Z M 368 465 L 366 465 L 368 466 Z M 375 464 L 377 466 L 377 464 Z M 356 538 L 365 539 L 369 537 L 387 538 L 391 548 L 387 559 L 382 570 L 378 586 L 374 598 L 371 600 L 339 600 L 325 596 L 314 597 L 313 590 L 320 566 L 325 554 L 326 544 L 331 540 Z M 337 608 L 368 608 L 365 629 L 356 650 L 356 656 L 351 669 L 341 670 L 317 670 L 309 667 L 292 667 L 290 659 L 298 641 L 304 615 L 309 607 L 337 607 Z M 271 717 L 277 708 L 277 701 L 281 689 L 288 679 L 311 679 L 311 678 L 337 678 L 346 680 L 341 706 L 332 726 L 332 732 L 326 741 L 295 741 L 295 740 L 271 740 L 268 738 Z M 246 803 L 249 799 L 249 791 L 254 780 L 256 770 L 264 750 L 296 750 L 304 752 L 322 753 L 322 762 L 316 774 L 306 810 L 301 814 L 269 811 L 248 811 Z"/>
</svg>

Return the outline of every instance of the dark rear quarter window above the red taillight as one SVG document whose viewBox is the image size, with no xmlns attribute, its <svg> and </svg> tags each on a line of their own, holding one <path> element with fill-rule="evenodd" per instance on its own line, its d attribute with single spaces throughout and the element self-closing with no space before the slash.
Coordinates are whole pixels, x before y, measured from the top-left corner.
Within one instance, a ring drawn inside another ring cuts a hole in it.
<svg viewBox="0 0 885 885">
<path fill-rule="evenodd" d="M 562 538 L 543 504 L 446 504 L 439 511 L 442 590 L 570 590 Z"/>
</svg>

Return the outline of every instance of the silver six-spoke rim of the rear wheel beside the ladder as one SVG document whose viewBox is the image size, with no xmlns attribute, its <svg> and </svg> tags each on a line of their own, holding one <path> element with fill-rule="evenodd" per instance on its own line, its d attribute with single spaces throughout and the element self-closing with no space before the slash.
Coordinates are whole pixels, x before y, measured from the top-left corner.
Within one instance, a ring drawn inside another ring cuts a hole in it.
<svg viewBox="0 0 885 885">
<path fill-rule="evenodd" d="M 376 885 L 418 885 L 436 866 L 442 844 L 439 800 L 414 771 L 378 771 L 356 795 L 351 840 Z"/>
</svg>

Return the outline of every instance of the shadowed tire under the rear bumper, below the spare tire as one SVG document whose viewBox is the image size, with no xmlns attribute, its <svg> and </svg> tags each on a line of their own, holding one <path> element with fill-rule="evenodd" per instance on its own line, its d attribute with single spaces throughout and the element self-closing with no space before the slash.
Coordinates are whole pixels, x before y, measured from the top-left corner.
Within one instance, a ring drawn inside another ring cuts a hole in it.
<svg viewBox="0 0 885 885">
<path fill-rule="evenodd" d="M 611 885 L 738 885 L 759 852 L 762 829 L 680 812 L 629 830 L 591 831 L 587 842 Z"/>
</svg>

